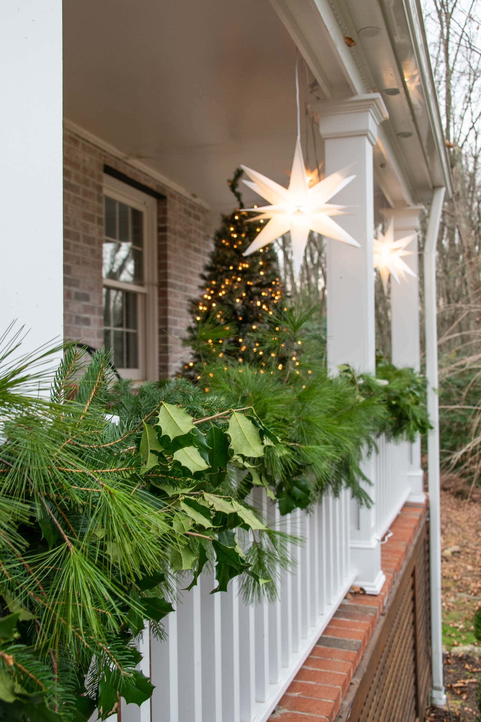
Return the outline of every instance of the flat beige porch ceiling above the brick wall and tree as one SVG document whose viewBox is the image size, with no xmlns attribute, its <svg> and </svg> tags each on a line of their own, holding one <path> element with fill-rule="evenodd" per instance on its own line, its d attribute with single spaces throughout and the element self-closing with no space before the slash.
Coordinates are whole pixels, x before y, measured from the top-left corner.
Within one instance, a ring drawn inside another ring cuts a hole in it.
<svg viewBox="0 0 481 722">
<path fill-rule="evenodd" d="M 65 0 L 63 27 L 70 121 L 213 211 L 231 209 L 226 178 L 240 163 L 286 182 L 296 48 L 268 0 Z"/>
</svg>

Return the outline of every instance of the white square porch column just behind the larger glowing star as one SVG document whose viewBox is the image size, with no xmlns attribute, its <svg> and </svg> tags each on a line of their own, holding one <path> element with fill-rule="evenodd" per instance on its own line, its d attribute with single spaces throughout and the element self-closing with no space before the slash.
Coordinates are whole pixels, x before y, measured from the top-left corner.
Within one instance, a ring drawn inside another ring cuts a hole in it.
<svg viewBox="0 0 481 722">
<path fill-rule="evenodd" d="M 327 241 L 327 362 L 333 373 L 343 363 L 356 371 L 375 373 L 373 146 L 387 110 L 379 93 L 322 103 L 316 110 L 325 139 L 327 175 L 354 164 L 356 178 L 333 202 L 351 206 L 351 214 L 336 221 L 361 244 L 353 248 Z M 366 489 L 375 503 L 374 458 L 366 459 L 363 470 L 373 483 Z M 358 570 L 356 584 L 378 594 L 385 577 L 374 507 L 351 504 L 350 550 Z"/>
</svg>

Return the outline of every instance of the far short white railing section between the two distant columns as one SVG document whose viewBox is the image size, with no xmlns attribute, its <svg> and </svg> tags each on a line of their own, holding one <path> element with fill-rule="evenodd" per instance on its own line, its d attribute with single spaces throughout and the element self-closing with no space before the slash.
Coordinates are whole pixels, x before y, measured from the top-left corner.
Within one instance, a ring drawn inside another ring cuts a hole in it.
<svg viewBox="0 0 481 722">
<path fill-rule="evenodd" d="M 381 539 L 400 513 L 411 487 L 408 482 L 407 458 L 410 446 L 388 441 L 384 435 L 377 441 L 376 454 L 376 532 Z"/>
</svg>

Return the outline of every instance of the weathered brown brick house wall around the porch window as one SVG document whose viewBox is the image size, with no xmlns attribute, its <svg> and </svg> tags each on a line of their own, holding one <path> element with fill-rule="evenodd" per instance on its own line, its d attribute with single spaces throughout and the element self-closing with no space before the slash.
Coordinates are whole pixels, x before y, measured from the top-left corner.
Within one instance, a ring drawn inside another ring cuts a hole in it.
<svg viewBox="0 0 481 722">
<path fill-rule="evenodd" d="M 66 130 L 63 136 L 64 329 L 67 339 L 103 343 L 102 180 L 104 165 L 143 183 L 157 201 L 159 259 L 159 375 L 175 373 L 185 358 L 181 339 L 188 302 L 198 293 L 205 263 L 208 211 L 149 175 Z"/>
</svg>

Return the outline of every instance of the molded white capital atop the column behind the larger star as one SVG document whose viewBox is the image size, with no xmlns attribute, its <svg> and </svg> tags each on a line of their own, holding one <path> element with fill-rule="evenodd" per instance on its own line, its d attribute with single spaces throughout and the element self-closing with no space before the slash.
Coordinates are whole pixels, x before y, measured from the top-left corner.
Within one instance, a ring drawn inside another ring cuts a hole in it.
<svg viewBox="0 0 481 722">
<path fill-rule="evenodd" d="M 377 127 L 389 118 L 379 92 L 330 100 L 317 104 L 315 109 L 319 114 L 319 133 L 322 138 L 366 136 L 371 145 L 376 145 Z"/>
</svg>

